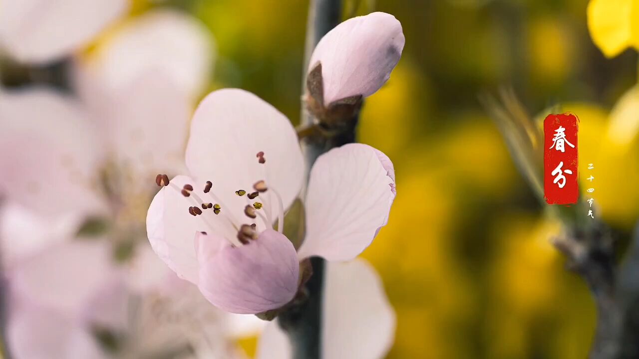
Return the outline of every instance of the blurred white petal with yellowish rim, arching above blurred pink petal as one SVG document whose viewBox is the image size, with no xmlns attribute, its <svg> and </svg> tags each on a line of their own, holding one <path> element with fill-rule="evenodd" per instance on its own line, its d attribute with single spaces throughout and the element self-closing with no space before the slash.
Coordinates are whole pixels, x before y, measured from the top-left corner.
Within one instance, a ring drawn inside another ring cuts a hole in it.
<svg viewBox="0 0 639 359">
<path fill-rule="evenodd" d="M 131 19 L 98 51 L 96 70 L 118 89 L 142 73 L 164 72 L 176 90 L 200 93 L 211 76 L 215 43 L 195 17 L 155 10 Z"/>
</svg>

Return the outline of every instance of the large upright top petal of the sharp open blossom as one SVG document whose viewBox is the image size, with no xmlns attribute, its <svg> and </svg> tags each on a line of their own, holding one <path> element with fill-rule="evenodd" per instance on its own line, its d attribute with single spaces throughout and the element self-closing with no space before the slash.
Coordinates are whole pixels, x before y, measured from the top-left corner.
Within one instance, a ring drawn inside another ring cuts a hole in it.
<svg viewBox="0 0 639 359">
<path fill-rule="evenodd" d="M 265 164 L 256 158 L 260 151 L 265 153 Z M 241 89 L 221 89 L 202 100 L 191 123 L 186 160 L 197 179 L 213 182 L 215 194 L 238 217 L 243 217 L 247 202 L 235 195 L 236 190 L 252 192 L 254 183 L 265 180 L 288 208 L 304 179 L 293 125 L 261 98 Z M 277 213 L 272 191 L 258 200 Z"/>
</svg>

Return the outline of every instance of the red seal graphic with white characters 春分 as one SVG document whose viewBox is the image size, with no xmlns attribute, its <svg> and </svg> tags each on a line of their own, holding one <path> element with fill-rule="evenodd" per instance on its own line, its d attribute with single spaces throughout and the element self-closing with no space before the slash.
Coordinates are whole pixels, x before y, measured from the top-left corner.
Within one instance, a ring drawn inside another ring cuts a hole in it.
<svg viewBox="0 0 639 359">
<path fill-rule="evenodd" d="M 544 197 L 548 204 L 579 200 L 578 128 L 579 119 L 569 112 L 544 119 Z"/>
</svg>

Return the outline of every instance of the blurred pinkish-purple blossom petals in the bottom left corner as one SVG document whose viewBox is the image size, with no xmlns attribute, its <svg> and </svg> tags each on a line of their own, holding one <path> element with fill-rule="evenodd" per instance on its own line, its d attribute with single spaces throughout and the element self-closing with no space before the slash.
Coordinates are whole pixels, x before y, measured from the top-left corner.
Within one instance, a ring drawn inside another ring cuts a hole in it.
<svg viewBox="0 0 639 359">
<path fill-rule="evenodd" d="M 104 241 L 52 245 L 15 263 L 6 277 L 6 331 L 14 358 L 107 357 L 94 330 L 123 328 L 126 312 Z"/>
</svg>

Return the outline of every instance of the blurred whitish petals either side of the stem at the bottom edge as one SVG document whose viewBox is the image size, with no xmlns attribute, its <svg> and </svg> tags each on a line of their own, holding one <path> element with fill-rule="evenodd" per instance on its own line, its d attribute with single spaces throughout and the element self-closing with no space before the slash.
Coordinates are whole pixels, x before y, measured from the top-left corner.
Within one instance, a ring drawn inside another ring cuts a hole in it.
<svg viewBox="0 0 639 359">
<path fill-rule="evenodd" d="M 320 328 L 322 358 L 385 357 L 394 341 L 396 316 L 371 264 L 363 259 L 327 264 Z M 275 321 L 268 323 L 256 358 L 292 357 L 286 333 Z"/>
</svg>

